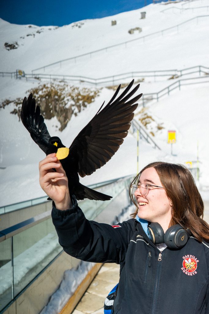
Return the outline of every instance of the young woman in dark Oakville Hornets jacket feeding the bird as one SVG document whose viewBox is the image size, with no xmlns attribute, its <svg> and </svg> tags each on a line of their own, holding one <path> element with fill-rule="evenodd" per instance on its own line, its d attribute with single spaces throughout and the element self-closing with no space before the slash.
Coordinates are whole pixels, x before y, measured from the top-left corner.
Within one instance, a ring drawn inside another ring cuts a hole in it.
<svg viewBox="0 0 209 314">
<path fill-rule="evenodd" d="M 52 219 L 64 251 L 84 261 L 121 265 L 114 314 L 209 314 L 209 225 L 185 167 L 147 165 L 130 187 L 137 219 L 118 228 L 85 218 L 75 197 L 70 199 L 55 154 L 40 162 L 39 171 L 40 185 L 54 201 Z"/>
</svg>

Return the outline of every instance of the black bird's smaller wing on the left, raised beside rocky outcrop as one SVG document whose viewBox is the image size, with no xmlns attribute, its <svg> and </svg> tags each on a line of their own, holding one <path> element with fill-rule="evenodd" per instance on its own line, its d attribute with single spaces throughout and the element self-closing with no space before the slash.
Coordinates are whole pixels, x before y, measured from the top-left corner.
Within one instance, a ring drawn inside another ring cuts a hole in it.
<svg viewBox="0 0 209 314">
<path fill-rule="evenodd" d="M 34 142 L 46 153 L 50 134 L 44 123 L 44 118 L 40 114 L 40 107 L 35 106 L 35 99 L 32 94 L 29 95 L 28 99 L 24 98 L 20 117 Z"/>
</svg>

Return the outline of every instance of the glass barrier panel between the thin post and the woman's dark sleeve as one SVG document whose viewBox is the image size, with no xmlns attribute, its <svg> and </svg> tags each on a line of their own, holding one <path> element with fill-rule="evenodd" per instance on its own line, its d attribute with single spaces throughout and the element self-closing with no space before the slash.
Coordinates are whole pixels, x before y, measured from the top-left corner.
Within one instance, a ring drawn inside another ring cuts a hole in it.
<svg viewBox="0 0 209 314">
<path fill-rule="evenodd" d="M 14 296 L 61 251 L 51 218 L 13 236 Z"/>
</svg>

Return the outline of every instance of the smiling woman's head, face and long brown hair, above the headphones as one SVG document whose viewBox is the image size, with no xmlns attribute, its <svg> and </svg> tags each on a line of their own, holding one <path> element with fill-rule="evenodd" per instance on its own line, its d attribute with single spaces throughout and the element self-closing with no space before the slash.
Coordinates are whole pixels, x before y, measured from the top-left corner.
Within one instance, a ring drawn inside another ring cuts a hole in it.
<svg viewBox="0 0 209 314">
<path fill-rule="evenodd" d="M 140 186 L 145 182 L 146 193 L 140 187 L 133 191 L 134 185 Z M 183 165 L 154 162 L 145 166 L 133 179 L 129 194 L 137 207 L 132 215 L 134 218 L 138 215 L 150 222 L 158 222 L 164 231 L 180 224 L 185 229 L 189 228 L 199 241 L 209 240 L 209 226 L 202 219 L 204 205 L 201 195 L 191 172 Z M 142 202 L 146 203 L 144 207 Z"/>
</svg>

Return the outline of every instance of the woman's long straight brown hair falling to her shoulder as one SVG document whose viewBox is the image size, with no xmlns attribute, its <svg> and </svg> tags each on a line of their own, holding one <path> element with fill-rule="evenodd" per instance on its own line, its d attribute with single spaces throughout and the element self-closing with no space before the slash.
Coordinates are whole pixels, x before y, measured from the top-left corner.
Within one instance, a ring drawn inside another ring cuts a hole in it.
<svg viewBox="0 0 209 314">
<path fill-rule="evenodd" d="M 169 227 L 179 224 L 185 229 L 189 228 L 198 241 L 201 242 L 202 239 L 209 241 L 209 225 L 203 220 L 204 204 L 191 172 L 183 165 L 153 162 L 144 167 L 131 184 L 138 184 L 141 173 L 151 167 L 157 172 L 162 186 L 172 202 L 172 218 Z M 130 189 L 129 195 L 137 206 Z M 132 214 L 134 218 L 137 212 L 138 208 Z"/>
</svg>

